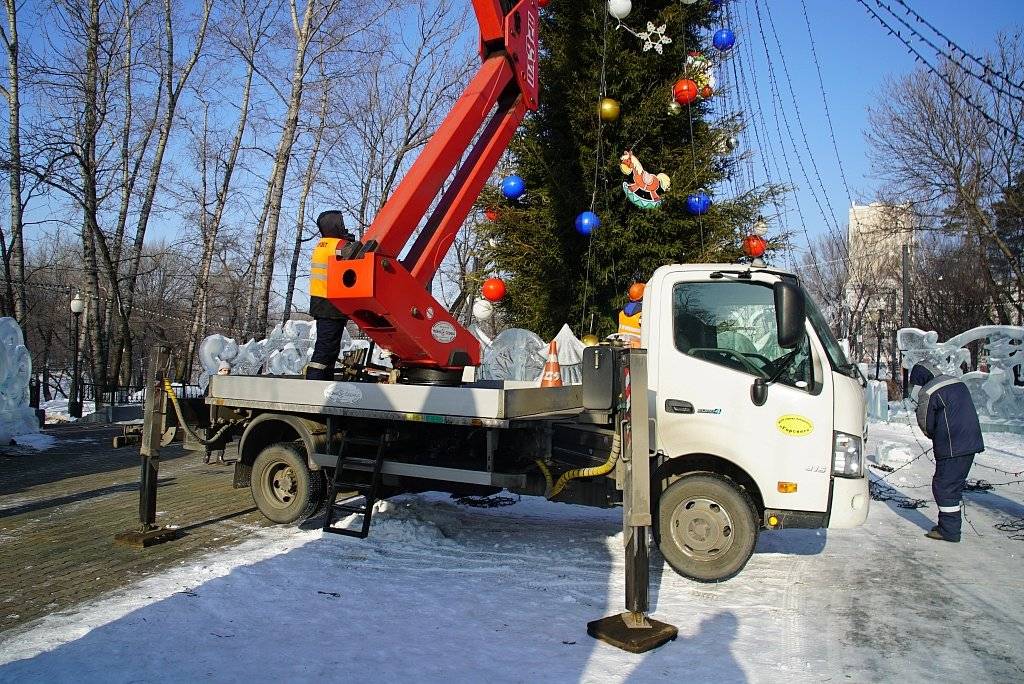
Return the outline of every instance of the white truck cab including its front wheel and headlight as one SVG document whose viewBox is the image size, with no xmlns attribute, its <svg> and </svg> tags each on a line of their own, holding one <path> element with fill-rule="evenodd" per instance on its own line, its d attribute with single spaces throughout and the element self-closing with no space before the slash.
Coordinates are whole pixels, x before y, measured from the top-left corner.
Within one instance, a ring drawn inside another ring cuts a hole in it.
<svg viewBox="0 0 1024 684">
<path fill-rule="evenodd" d="M 806 310 L 779 340 L 785 286 Z M 853 527 L 867 516 L 856 369 L 797 277 L 736 264 L 658 268 L 645 291 L 650 443 L 660 548 L 681 573 L 737 572 L 769 529 Z"/>
</svg>

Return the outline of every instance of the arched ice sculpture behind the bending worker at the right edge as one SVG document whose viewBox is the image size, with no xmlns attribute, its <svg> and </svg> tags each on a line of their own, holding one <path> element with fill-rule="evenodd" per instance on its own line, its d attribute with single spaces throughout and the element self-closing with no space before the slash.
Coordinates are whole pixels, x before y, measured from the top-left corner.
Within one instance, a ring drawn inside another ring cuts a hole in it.
<svg viewBox="0 0 1024 684">
<path fill-rule="evenodd" d="M 971 351 L 965 346 L 987 341 L 987 371 L 970 371 Z M 971 391 L 982 423 L 1024 424 L 1024 327 L 980 326 L 945 342 L 935 332 L 904 328 L 896 333 L 903 350 L 903 368 L 929 361 L 939 371 L 959 378 Z"/>
</svg>

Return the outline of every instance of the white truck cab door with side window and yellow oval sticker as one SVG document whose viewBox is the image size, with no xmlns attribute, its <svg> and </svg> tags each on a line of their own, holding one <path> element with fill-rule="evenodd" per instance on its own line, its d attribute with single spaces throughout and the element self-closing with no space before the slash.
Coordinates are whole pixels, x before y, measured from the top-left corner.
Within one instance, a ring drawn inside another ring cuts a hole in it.
<svg viewBox="0 0 1024 684">
<path fill-rule="evenodd" d="M 667 279 L 671 301 L 658 307 L 658 448 L 732 461 L 768 508 L 825 511 L 833 390 L 816 338 L 807 328 L 795 353 L 778 345 L 767 276 L 685 280 L 693 275 Z M 776 374 L 767 401 L 755 405 L 755 378 Z"/>
</svg>

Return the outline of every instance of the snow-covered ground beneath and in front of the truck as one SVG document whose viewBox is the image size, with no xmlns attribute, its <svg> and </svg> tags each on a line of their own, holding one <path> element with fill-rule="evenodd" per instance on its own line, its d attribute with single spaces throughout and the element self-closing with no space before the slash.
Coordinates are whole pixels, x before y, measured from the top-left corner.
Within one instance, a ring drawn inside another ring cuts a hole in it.
<svg viewBox="0 0 1024 684">
<path fill-rule="evenodd" d="M 871 426 L 911 510 L 872 502 L 853 530 L 764 533 L 736 579 L 685 581 L 654 554 L 652 613 L 679 639 L 646 654 L 594 641 L 623 608 L 617 510 L 539 499 L 385 505 L 371 537 L 268 528 L 231 550 L 0 637 L 0 682 L 1021 681 L 1024 487 L 968 495 L 964 542 L 934 523 L 927 441 Z M 1024 438 L 979 464 L 1024 470 Z M 879 473 L 886 475 L 887 473 Z M 980 465 L 972 477 L 1002 482 Z"/>
</svg>

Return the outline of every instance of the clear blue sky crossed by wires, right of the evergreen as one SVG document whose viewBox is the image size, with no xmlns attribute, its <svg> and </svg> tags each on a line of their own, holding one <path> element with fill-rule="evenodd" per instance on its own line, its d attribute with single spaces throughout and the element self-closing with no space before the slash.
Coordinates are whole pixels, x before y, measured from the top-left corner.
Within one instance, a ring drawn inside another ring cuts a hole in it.
<svg viewBox="0 0 1024 684">
<path fill-rule="evenodd" d="M 786 108 L 786 116 L 794 133 L 798 136 L 797 146 L 804 156 L 804 163 L 811 181 L 817 180 L 809 166 L 808 155 L 803 148 L 803 141 L 796 129 L 794 104 L 782 74 L 782 58 L 788 68 L 797 93 L 797 102 L 806 129 L 809 146 L 814 155 L 818 171 L 827 196 L 827 204 L 845 226 L 849 198 L 843 185 L 836 153 L 833 148 L 825 122 L 824 106 L 818 86 L 818 75 L 811 57 L 811 47 L 808 38 L 807 24 L 801 0 L 760 0 L 762 20 L 768 36 L 769 46 L 774 48 L 774 38 L 767 23 L 765 2 L 770 2 L 771 18 L 782 45 L 781 54 L 776 49 L 771 50 L 772 65 L 776 77 L 780 79 L 779 88 L 782 103 Z M 865 0 L 874 7 L 874 0 Z M 991 46 L 996 33 L 1012 32 L 1024 27 L 1024 2 L 1021 0 L 904 0 L 937 29 L 942 31 L 963 48 L 982 54 Z M 856 0 L 805 0 L 813 30 L 814 44 L 821 69 L 821 76 L 828 99 L 836 131 L 837 144 L 843 161 L 843 167 L 849 181 L 854 200 L 869 201 L 879 185 L 871 177 L 869 163 L 865 151 L 863 132 L 867 127 L 867 106 L 886 96 L 886 81 L 890 77 L 911 72 L 915 65 L 913 57 L 895 38 L 886 34 L 878 22 L 868 15 L 867 11 Z M 885 0 L 894 10 L 900 8 L 895 0 Z M 737 25 L 737 39 L 748 41 L 744 48 L 753 48 L 753 74 L 760 84 L 760 95 L 767 126 L 774 132 L 774 115 L 771 112 L 771 89 L 767 77 L 767 58 L 761 42 L 755 13 L 755 0 L 728 0 L 733 23 Z M 750 17 L 751 25 L 743 26 L 744 17 Z M 725 22 L 723 20 L 724 25 Z M 931 56 L 928 48 L 925 54 Z M 746 49 L 734 48 L 731 58 L 746 61 L 748 81 L 751 80 L 750 52 Z M 730 68 L 731 74 L 731 68 Z M 727 82 L 731 82 L 727 75 Z M 784 128 L 783 128 L 784 131 Z M 748 131 L 744 145 L 753 145 L 753 132 Z M 772 149 L 779 157 L 781 166 L 782 140 L 773 140 Z M 814 199 L 807 188 L 807 183 L 793 159 L 793 147 L 786 141 L 786 152 L 791 158 L 791 167 L 796 184 L 799 186 L 799 200 L 806 218 L 808 233 L 813 238 L 824 230 L 825 220 L 821 216 Z M 766 145 L 767 146 L 767 145 Z M 759 180 L 763 179 L 764 171 L 761 159 L 755 159 L 755 170 Z M 770 170 L 773 167 L 769 166 Z M 774 180 L 774 179 L 773 179 Z M 787 178 L 783 178 L 787 182 Z M 797 227 L 796 214 L 792 212 L 791 228 Z M 827 211 L 827 207 L 826 207 Z M 830 221 L 830 216 L 829 216 Z M 797 243 L 803 247 L 802 232 L 797 234 Z"/>
</svg>

